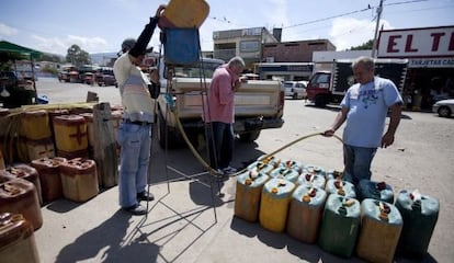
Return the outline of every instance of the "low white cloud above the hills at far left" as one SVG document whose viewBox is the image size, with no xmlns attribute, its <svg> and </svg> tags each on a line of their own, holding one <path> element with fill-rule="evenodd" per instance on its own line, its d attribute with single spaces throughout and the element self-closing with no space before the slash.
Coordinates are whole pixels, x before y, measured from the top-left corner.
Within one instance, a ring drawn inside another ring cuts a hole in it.
<svg viewBox="0 0 454 263">
<path fill-rule="evenodd" d="M 100 53 L 106 49 L 107 42 L 101 37 L 68 35 L 66 37 L 43 37 L 32 35 L 36 49 L 45 53 L 66 55 L 72 45 L 78 45 L 88 53 Z"/>
</svg>

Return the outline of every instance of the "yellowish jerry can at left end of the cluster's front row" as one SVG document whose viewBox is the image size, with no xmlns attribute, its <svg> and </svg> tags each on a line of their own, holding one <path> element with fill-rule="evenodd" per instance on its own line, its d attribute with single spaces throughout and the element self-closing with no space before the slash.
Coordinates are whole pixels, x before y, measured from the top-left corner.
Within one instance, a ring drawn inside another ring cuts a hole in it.
<svg viewBox="0 0 454 263">
<path fill-rule="evenodd" d="M 270 176 L 256 171 L 246 171 L 237 176 L 235 216 L 254 222 L 259 219 L 260 197 Z"/>
</svg>

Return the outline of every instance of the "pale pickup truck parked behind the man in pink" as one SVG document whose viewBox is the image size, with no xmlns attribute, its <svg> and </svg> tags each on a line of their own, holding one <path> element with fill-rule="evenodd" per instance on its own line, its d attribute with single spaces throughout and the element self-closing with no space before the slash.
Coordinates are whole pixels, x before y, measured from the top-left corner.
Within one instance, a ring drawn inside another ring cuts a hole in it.
<svg viewBox="0 0 454 263">
<path fill-rule="evenodd" d="M 158 140 L 162 148 L 173 148 L 182 140 L 179 117 L 189 138 L 204 133 L 202 100 L 209 88 L 214 70 L 224 61 L 203 58 L 193 66 L 158 66 L 161 95 L 157 102 Z M 202 70 L 203 69 L 203 70 Z M 168 77 L 170 76 L 170 77 Z M 284 88 L 275 80 L 248 80 L 235 95 L 234 132 L 242 141 L 253 141 L 266 128 L 284 124 Z M 194 140 L 195 141 L 195 140 Z"/>
</svg>

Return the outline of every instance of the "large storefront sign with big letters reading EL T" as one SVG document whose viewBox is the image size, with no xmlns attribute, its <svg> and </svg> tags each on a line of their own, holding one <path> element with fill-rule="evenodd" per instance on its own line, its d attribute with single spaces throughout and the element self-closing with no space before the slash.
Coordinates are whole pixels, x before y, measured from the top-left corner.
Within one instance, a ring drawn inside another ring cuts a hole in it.
<svg viewBox="0 0 454 263">
<path fill-rule="evenodd" d="M 377 57 L 454 57 L 454 26 L 381 31 Z"/>
</svg>

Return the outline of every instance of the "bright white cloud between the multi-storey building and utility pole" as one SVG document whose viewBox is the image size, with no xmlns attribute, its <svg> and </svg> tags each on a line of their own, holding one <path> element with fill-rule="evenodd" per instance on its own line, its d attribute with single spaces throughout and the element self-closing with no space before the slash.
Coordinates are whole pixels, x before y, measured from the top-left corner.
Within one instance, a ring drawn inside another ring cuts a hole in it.
<svg viewBox="0 0 454 263">
<path fill-rule="evenodd" d="M 382 20 L 379 24 L 379 26 L 384 25 L 385 28 L 391 27 L 386 20 Z M 359 46 L 373 39 L 375 26 L 376 22 L 370 20 L 350 18 L 334 19 L 329 31 L 329 38 L 337 47 L 337 50 L 345 50 L 347 48 Z"/>
</svg>

